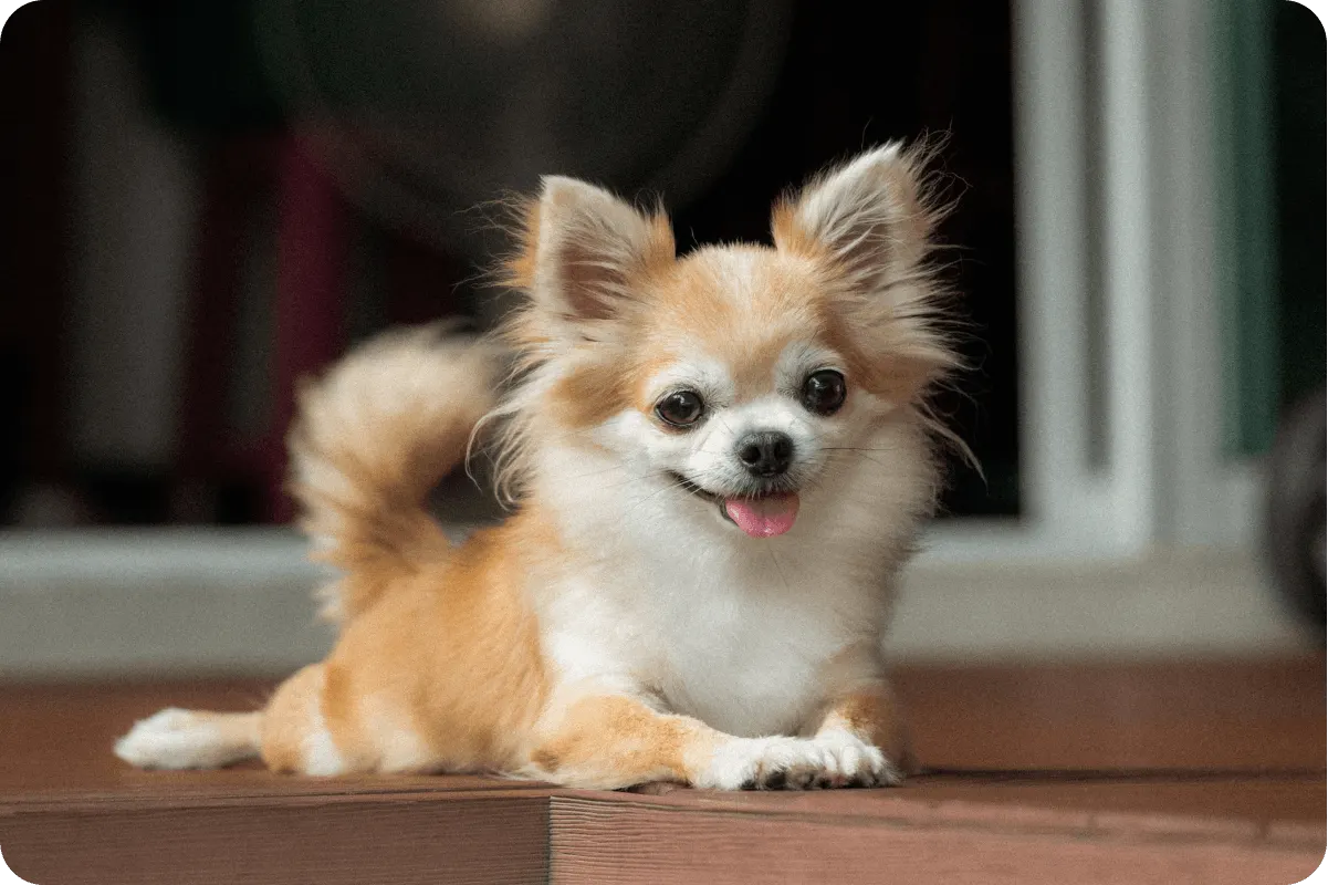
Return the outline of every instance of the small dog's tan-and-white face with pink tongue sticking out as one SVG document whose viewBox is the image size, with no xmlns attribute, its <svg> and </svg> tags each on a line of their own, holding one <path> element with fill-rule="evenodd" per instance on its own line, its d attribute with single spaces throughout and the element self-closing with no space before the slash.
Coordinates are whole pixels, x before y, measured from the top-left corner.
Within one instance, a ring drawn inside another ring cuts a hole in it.
<svg viewBox="0 0 1328 885">
<path fill-rule="evenodd" d="M 801 496 L 888 404 L 830 330 L 807 260 L 708 248 L 645 287 L 628 400 L 598 432 L 753 537 L 788 532 Z"/>
</svg>

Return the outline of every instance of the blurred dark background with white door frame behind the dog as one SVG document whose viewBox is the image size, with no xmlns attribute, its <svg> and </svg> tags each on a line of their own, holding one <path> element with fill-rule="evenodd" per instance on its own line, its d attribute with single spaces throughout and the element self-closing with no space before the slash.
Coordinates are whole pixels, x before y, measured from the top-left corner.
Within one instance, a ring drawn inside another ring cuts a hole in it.
<svg viewBox="0 0 1328 885">
<path fill-rule="evenodd" d="M 1323 640 L 1323 432 L 1286 416 L 1323 425 L 1324 35 L 1291 0 L 42 0 L 0 82 L 4 672 L 316 655 L 291 385 L 501 316 L 489 201 L 562 173 L 661 195 L 680 247 L 765 242 L 782 189 L 923 133 L 976 367 L 942 411 L 985 477 L 952 465 L 892 647 Z M 463 477 L 438 512 L 498 516 Z"/>
</svg>

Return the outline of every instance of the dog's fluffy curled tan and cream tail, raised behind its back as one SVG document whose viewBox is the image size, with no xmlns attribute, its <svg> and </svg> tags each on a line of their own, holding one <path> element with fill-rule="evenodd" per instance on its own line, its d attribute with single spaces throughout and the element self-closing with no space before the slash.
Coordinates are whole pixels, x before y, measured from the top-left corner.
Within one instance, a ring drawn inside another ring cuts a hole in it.
<svg viewBox="0 0 1328 885">
<path fill-rule="evenodd" d="M 426 498 L 465 458 L 497 381 L 491 345 L 430 326 L 386 332 L 300 389 L 290 488 L 313 558 L 344 575 L 320 594 L 324 617 L 353 618 L 446 555 Z"/>
</svg>

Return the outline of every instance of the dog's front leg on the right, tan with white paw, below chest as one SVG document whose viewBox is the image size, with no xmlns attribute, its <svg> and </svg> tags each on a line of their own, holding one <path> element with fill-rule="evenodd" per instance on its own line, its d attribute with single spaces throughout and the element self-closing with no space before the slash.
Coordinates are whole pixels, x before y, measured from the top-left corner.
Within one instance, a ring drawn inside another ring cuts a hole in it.
<svg viewBox="0 0 1328 885">
<path fill-rule="evenodd" d="M 899 703 L 883 679 L 837 696 L 814 740 L 839 760 L 839 771 L 819 787 L 898 784 L 918 771 Z"/>
</svg>

